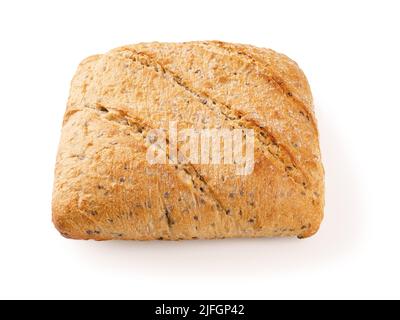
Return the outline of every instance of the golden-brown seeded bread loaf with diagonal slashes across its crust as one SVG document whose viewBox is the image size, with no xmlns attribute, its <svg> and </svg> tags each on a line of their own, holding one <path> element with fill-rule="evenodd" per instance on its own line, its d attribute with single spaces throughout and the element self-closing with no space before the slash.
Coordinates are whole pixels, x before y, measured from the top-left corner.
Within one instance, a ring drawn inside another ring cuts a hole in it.
<svg viewBox="0 0 400 320">
<path fill-rule="evenodd" d="M 243 141 L 252 133 L 253 166 L 191 160 L 172 143 L 173 126 L 242 132 Z M 149 161 L 155 132 L 167 137 L 153 150 L 164 163 Z M 217 41 L 144 43 L 79 65 L 55 169 L 53 222 L 63 236 L 305 238 L 323 207 L 312 95 L 286 56 Z"/>
</svg>

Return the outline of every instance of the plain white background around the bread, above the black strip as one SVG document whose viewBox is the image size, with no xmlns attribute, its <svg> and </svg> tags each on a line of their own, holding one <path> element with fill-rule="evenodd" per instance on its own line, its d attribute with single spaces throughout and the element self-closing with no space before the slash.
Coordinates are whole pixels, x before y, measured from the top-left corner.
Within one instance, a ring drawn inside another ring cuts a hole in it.
<svg viewBox="0 0 400 320">
<path fill-rule="evenodd" d="M 399 1 L 0 3 L 0 298 L 400 298 Z M 62 238 L 53 169 L 80 60 L 206 39 L 273 48 L 307 74 L 326 168 L 318 235 Z"/>
</svg>

